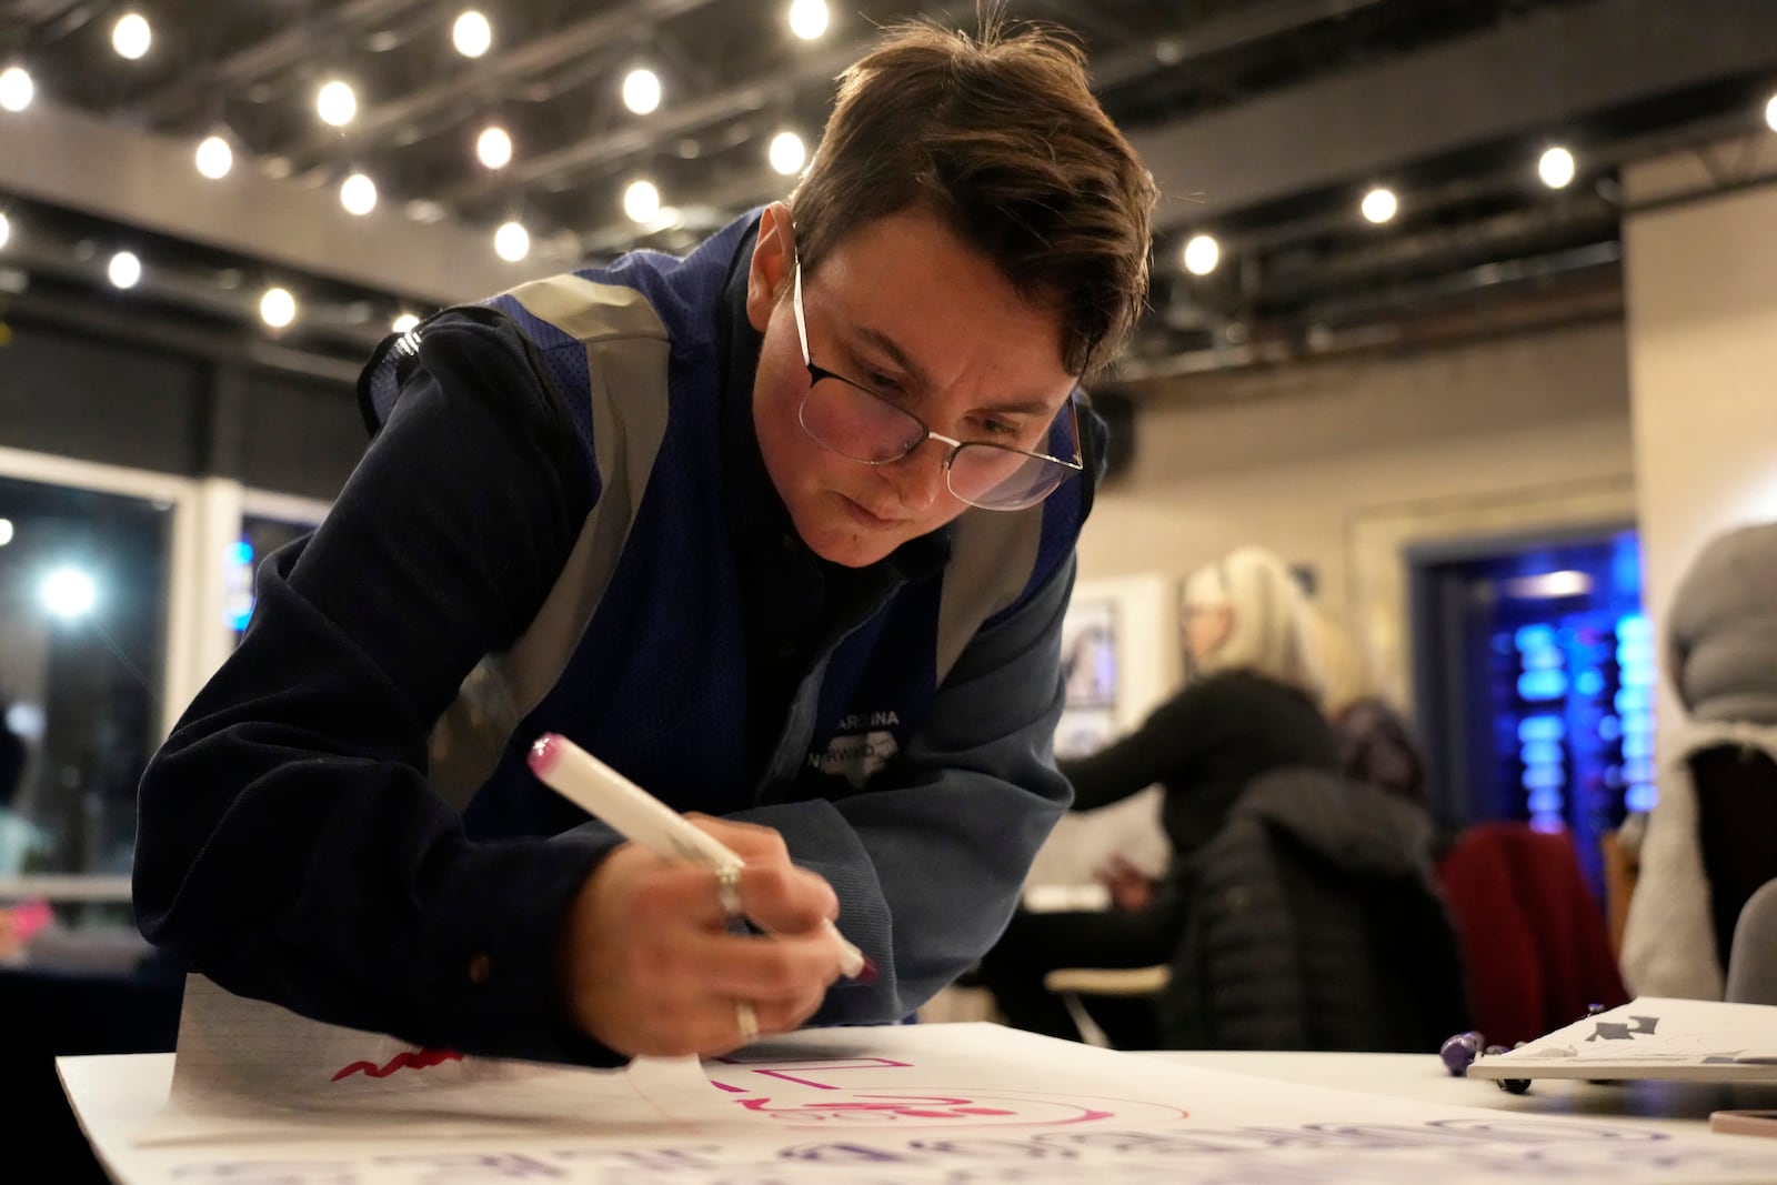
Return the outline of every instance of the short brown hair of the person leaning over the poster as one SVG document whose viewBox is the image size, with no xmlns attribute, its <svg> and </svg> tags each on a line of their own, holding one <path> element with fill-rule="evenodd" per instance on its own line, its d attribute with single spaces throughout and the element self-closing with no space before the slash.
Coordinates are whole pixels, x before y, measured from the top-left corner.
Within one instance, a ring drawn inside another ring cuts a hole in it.
<svg viewBox="0 0 1777 1185">
<path fill-rule="evenodd" d="M 976 37 L 897 25 L 841 75 L 789 204 L 807 270 L 860 226 L 929 204 L 1022 297 L 1061 311 L 1061 361 L 1086 377 L 1146 302 L 1153 201 L 1080 48 L 990 18 Z"/>
</svg>

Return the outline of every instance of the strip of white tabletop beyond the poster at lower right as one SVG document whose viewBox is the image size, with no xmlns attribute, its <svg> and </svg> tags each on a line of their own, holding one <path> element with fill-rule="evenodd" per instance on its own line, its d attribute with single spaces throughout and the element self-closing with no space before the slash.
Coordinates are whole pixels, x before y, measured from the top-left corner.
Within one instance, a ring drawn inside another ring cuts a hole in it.
<svg viewBox="0 0 1777 1185">
<path fill-rule="evenodd" d="M 1608 1082 L 1582 1078 L 1532 1080 L 1525 1094 L 1510 1094 L 1486 1078 L 1454 1078 L 1436 1054 L 1272 1054 L 1272 1052 L 1153 1052 L 1187 1066 L 1223 1070 L 1301 1086 L 1326 1086 L 1388 1094 L 1423 1103 L 1452 1103 L 1518 1110 L 1537 1116 L 1622 1119 L 1670 1133 L 1706 1132 L 1711 1110 L 1773 1109 L 1777 1082 L 1715 1086 L 1706 1082 Z M 1754 1137 L 1720 1137 L 1754 1139 Z"/>
</svg>

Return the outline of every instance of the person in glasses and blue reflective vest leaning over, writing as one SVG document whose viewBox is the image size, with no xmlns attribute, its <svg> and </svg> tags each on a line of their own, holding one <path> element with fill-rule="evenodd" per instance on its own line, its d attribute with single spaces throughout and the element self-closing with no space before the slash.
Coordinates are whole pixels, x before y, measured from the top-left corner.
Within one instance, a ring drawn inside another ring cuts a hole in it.
<svg viewBox="0 0 1777 1185">
<path fill-rule="evenodd" d="M 464 1054 L 912 1014 L 1068 801 L 1080 380 L 1143 309 L 1153 201 L 1064 36 L 896 27 L 787 201 L 391 338 L 368 453 L 142 778 L 142 933 Z M 546 732 L 739 883 L 551 794 Z"/>
</svg>

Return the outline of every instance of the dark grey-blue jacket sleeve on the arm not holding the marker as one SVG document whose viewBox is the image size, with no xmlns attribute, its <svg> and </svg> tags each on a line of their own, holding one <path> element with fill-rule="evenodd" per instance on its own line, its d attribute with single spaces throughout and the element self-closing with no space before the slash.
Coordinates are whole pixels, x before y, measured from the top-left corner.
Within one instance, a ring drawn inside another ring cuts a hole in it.
<svg viewBox="0 0 1777 1185">
<path fill-rule="evenodd" d="M 1011 919 L 1031 860 L 1068 805 L 1052 753 L 1072 590 L 1070 558 L 1018 611 L 976 634 L 890 785 L 745 812 L 833 885 L 841 929 L 878 966 L 873 982 L 828 991 L 812 1023 L 910 1016 Z"/>
</svg>

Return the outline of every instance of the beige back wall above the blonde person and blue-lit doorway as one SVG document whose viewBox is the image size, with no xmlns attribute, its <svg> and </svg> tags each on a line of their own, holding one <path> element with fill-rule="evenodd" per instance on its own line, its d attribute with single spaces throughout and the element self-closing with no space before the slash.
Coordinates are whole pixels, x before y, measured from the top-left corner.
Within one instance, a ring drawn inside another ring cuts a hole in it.
<svg viewBox="0 0 1777 1185">
<path fill-rule="evenodd" d="M 1402 702 L 1406 545 L 1635 512 L 1621 323 L 1207 375 L 1178 394 L 1139 409 L 1136 462 L 1080 540 L 1082 579 L 1183 576 L 1267 545 L 1313 569 Z"/>
</svg>

